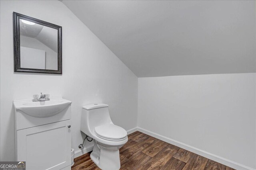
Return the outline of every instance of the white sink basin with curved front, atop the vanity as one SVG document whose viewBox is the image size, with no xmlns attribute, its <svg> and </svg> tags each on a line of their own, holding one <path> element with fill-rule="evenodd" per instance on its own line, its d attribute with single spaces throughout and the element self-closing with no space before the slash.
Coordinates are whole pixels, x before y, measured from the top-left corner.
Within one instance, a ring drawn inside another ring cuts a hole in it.
<svg viewBox="0 0 256 170">
<path fill-rule="evenodd" d="M 64 110 L 72 102 L 63 98 L 51 98 L 48 101 L 32 102 L 32 100 L 16 100 L 13 102 L 16 110 L 33 117 L 51 117 Z"/>
</svg>

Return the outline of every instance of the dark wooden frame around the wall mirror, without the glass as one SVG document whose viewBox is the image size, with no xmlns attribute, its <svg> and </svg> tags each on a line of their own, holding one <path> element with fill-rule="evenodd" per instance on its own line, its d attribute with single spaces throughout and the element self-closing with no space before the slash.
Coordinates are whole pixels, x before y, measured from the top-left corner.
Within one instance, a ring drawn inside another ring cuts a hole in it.
<svg viewBox="0 0 256 170">
<path fill-rule="evenodd" d="M 58 30 L 58 70 L 46 70 L 36 68 L 21 68 L 20 67 L 20 19 L 32 21 L 46 27 Z M 14 38 L 14 72 L 30 72 L 30 73 L 46 73 L 46 74 L 62 74 L 62 27 L 38 20 L 29 16 L 25 16 L 13 12 L 13 38 Z"/>
</svg>

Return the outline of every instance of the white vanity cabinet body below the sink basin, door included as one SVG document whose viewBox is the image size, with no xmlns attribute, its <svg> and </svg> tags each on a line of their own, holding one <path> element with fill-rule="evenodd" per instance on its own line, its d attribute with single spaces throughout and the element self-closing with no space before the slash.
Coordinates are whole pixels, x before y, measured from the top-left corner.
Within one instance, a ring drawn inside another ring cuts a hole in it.
<svg viewBox="0 0 256 170">
<path fill-rule="evenodd" d="M 33 117 L 15 104 L 14 108 L 16 161 L 26 161 L 26 170 L 70 169 L 71 103 L 50 117 Z"/>
</svg>

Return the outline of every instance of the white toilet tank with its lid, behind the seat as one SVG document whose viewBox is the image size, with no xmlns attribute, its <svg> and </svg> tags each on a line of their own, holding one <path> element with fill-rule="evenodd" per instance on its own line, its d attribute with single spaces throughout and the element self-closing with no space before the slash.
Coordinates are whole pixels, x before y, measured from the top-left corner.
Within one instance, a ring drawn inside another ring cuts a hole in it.
<svg viewBox="0 0 256 170">
<path fill-rule="evenodd" d="M 81 131 L 86 135 L 94 132 L 94 128 L 105 123 L 112 123 L 107 104 L 89 104 L 83 106 Z"/>
</svg>

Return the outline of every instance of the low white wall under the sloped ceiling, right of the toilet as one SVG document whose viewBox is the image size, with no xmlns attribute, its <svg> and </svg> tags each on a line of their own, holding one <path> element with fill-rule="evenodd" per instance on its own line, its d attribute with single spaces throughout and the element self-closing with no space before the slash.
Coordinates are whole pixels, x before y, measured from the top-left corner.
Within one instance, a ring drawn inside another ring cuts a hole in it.
<svg viewBox="0 0 256 170">
<path fill-rule="evenodd" d="M 138 127 L 256 168 L 256 74 L 138 79 Z"/>
</svg>

